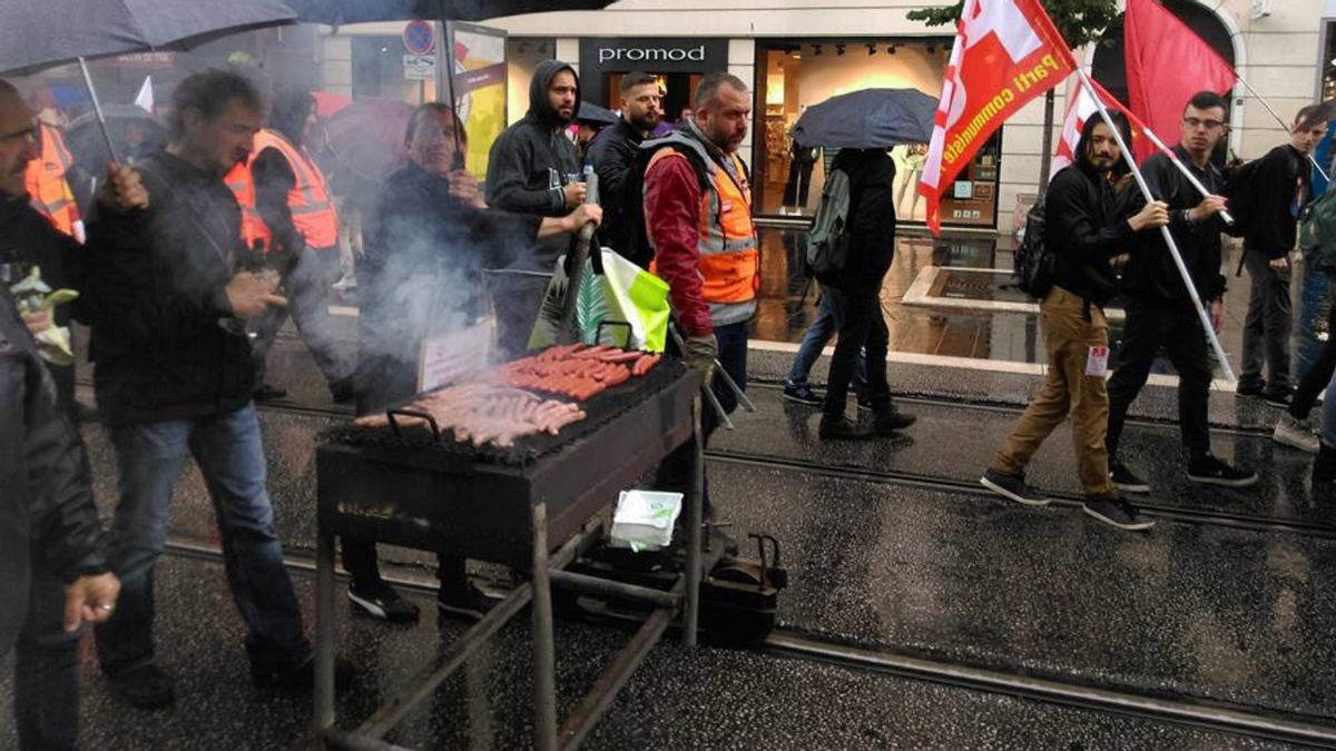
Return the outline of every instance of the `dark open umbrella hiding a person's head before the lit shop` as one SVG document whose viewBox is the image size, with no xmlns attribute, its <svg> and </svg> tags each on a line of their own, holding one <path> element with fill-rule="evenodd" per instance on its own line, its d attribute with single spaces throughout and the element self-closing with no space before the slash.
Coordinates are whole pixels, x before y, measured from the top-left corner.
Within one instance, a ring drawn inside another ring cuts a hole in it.
<svg viewBox="0 0 1336 751">
<path fill-rule="evenodd" d="M 808 147 L 883 148 L 933 139 L 937 98 L 916 88 L 867 88 L 808 107 L 792 138 Z"/>
</svg>

